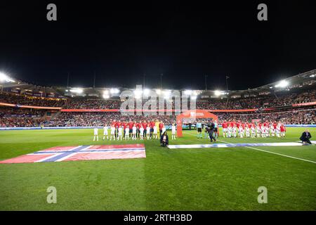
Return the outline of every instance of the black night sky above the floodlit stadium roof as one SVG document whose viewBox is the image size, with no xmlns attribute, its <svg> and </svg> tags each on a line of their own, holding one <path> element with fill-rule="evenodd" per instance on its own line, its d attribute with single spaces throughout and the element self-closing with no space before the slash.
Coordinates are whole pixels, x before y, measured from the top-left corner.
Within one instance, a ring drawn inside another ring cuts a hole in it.
<svg viewBox="0 0 316 225">
<path fill-rule="evenodd" d="M 35 84 L 247 89 L 316 68 L 315 1 L 38 2 L 0 3 L 0 70 Z"/>
</svg>

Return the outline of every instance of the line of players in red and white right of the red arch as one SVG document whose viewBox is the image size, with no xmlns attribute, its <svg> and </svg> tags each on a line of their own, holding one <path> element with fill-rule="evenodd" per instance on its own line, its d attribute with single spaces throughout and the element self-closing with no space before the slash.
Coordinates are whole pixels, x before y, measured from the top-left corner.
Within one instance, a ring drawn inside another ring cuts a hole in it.
<svg viewBox="0 0 316 225">
<path fill-rule="evenodd" d="M 281 122 L 258 122 L 257 124 L 243 122 L 223 122 L 223 137 L 231 138 L 265 138 L 265 137 L 285 137 L 287 129 Z"/>
</svg>

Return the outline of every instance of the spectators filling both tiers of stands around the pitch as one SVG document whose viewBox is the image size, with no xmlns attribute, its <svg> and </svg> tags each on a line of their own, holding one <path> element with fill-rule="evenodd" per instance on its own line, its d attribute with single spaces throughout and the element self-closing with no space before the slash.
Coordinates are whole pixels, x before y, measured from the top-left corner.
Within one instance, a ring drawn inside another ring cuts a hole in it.
<svg viewBox="0 0 316 225">
<path fill-rule="evenodd" d="M 289 94 L 285 96 L 265 96 L 251 98 L 237 98 L 197 101 L 198 109 L 247 109 L 247 108 L 271 108 L 290 105 L 289 108 L 270 111 L 258 110 L 254 113 L 216 113 L 219 123 L 224 120 L 241 122 L 280 121 L 284 124 L 316 124 L 315 106 L 292 108 L 295 103 L 308 103 L 316 101 L 315 90 L 305 91 L 301 94 Z M 70 109 L 119 109 L 121 101 L 100 99 L 67 99 L 55 100 L 53 98 L 35 98 L 0 92 L 0 103 L 13 103 L 18 105 L 55 106 Z M 174 105 L 173 105 L 174 108 Z M 25 108 L 11 108 L 0 106 L 0 127 L 37 127 L 41 124 L 49 127 L 87 127 L 103 126 L 113 120 L 143 121 L 159 120 L 166 125 L 176 123 L 175 115 L 121 115 L 121 113 L 58 113 L 53 117 L 46 117 L 46 110 L 34 110 Z"/>
</svg>

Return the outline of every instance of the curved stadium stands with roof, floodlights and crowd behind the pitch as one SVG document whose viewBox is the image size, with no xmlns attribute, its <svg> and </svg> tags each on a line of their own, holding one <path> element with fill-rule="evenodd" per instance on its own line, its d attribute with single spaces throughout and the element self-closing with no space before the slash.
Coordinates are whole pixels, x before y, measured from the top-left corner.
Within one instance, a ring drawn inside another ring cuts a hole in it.
<svg viewBox="0 0 316 225">
<path fill-rule="evenodd" d="M 118 87 L 37 86 L 6 77 L 3 73 L 1 76 L 0 105 L 2 106 L 1 118 L 3 120 L 0 124 L 1 127 L 103 126 L 105 117 L 102 116 L 102 113 L 108 116 L 111 113 L 118 115 L 120 112 L 121 101 L 125 100 L 121 98 L 121 92 L 131 90 L 136 93 L 136 89 Z M 228 118 L 230 116 L 236 117 L 236 120 L 264 120 L 266 116 L 271 115 L 268 113 L 279 113 L 277 120 L 284 120 L 285 124 L 315 124 L 315 83 L 316 70 L 311 70 L 254 89 L 178 91 L 194 98 L 197 109 L 217 114 L 220 121 L 230 120 Z M 145 97 L 146 91 L 149 90 L 141 90 L 140 95 Z M 154 91 L 158 96 L 164 93 L 164 90 L 160 89 L 151 89 L 151 91 Z M 166 96 L 166 98 L 171 98 L 172 101 L 172 96 Z M 305 114 L 302 116 L 302 112 L 303 114 L 304 112 L 308 113 L 308 119 L 305 118 Z M 72 122 L 75 116 L 80 113 L 81 115 L 86 114 L 87 120 L 91 117 L 91 113 L 96 113 L 103 120 L 87 122 L 86 126 Z M 300 115 L 296 117 L 300 120 L 289 120 L 289 117 L 295 118 L 296 114 Z M 31 122 L 27 124 L 24 122 L 17 124 L 6 122 L 6 118 L 9 120 L 12 117 L 18 117 L 19 120 L 26 118 Z M 62 122 L 55 122 L 58 118 L 61 118 Z M 123 117 L 121 119 L 139 120 L 139 118 L 141 117 Z M 163 116 L 162 118 L 167 125 L 176 122 L 176 118 L 172 116 Z M 107 118 L 107 120 L 111 120 L 111 118 Z M 107 121 L 107 123 L 109 122 Z"/>
</svg>

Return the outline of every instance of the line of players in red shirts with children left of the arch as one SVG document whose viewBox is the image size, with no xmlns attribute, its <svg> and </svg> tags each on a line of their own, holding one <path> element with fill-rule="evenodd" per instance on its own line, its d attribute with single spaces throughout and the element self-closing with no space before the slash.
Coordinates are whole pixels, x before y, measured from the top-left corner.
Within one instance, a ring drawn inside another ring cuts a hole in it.
<svg viewBox="0 0 316 225">
<path fill-rule="evenodd" d="M 114 120 L 110 125 L 110 136 L 108 133 L 109 127 L 105 125 L 103 127 L 103 140 L 107 139 L 110 141 L 117 140 L 129 140 L 130 138 L 132 140 L 140 139 L 158 139 L 158 131 L 159 131 L 159 137 L 164 134 L 164 131 L 166 131 L 166 127 L 162 122 L 159 122 L 159 120 L 156 120 L 156 122 L 121 122 Z M 171 127 L 172 132 L 172 139 L 176 140 L 176 125 L 173 124 Z M 98 127 L 94 128 L 94 136 L 93 141 L 99 140 L 98 138 Z"/>
</svg>

